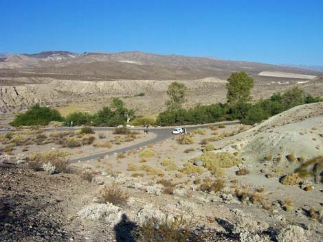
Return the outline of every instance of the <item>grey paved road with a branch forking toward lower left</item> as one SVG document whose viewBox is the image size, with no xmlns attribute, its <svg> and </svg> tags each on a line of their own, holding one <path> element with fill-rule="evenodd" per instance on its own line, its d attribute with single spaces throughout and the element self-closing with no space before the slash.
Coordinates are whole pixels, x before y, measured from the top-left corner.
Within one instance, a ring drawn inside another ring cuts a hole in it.
<svg viewBox="0 0 323 242">
<path fill-rule="evenodd" d="M 219 123 L 213 123 L 214 125 L 219 125 L 219 124 L 223 124 L 223 125 L 237 125 L 240 124 L 240 121 L 227 121 L 227 122 L 219 122 Z M 208 128 L 210 124 L 206 124 L 206 125 L 184 125 L 182 127 L 185 127 L 186 130 L 194 130 L 197 128 Z M 63 130 L 79 130 L 81 127 L 60 127 L 60 128 L 44 128 L 44 130 L 58 130 L 58 131 L 63 131 Z M 95 131 L 104 131 L 104 130 L 114 130 L 115 128 L 111 128 L 111 127 L 92 127 L 93 130 Z M 143 128 L 133 128 L 133 130 L 144 130 Z M 0 132 L 10 132 L 10 131 L 14 131 L 14 130 L 5 130 L 5 129 L 0 129 Z M 82 158 L 78 158 L 75 160 L 70 160 L 70 163 L 76 163 L 78 161 L 82 162 L 82 161 L 86 161 L 86 160 L 95 160 L 97 158 L 104 158 L 104 156 L 108 156 L 114 153 L 124 153 L 124 152 L 128 152 L 129 150 L 132 149 L 138 149 L 140 147 L 144 147 L 146 145 L 149 144 L 155 144 L 158 143 L 159 141 L 164 141 L 167 138 L 170 138 L 172 136 L 172 128 L 151 128 L 149 130 L 150 133 L 155 133 L 156 137 L 149 140 L 149 141 L 144 141 L 142 143 L 138 143 L 136 145 L 131 145 L 129 147 L 123 147 L 120 149 L 114 149 L 112 151 L 109 152 L 103 152 L 100 154 L 93 154 L 91 156 L 86 156 L 86 157 L 82 157 Z"/>
</svg>

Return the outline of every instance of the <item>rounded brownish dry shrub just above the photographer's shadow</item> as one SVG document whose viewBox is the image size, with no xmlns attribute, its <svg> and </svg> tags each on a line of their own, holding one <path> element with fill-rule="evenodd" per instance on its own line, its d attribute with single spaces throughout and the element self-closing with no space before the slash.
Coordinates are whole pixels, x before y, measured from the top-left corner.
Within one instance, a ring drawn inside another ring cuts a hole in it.
<svg viewBox="0 0 323 242">
<path fill-rule="evenodd" d="M 100 190 L 100 200 L 102 203 L 111 203 L 115 206 L 124 206 L 128 202 L 129 194 L 123 192 L 118 186 L 104 186 Z"/>
</svg>

